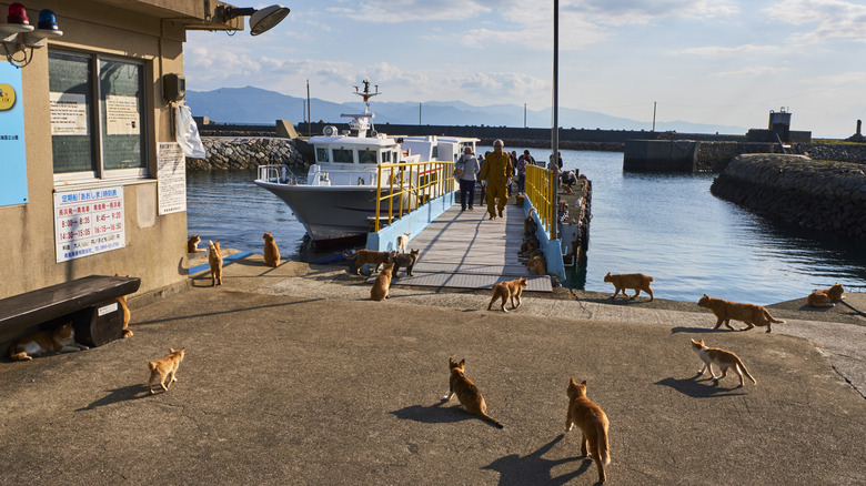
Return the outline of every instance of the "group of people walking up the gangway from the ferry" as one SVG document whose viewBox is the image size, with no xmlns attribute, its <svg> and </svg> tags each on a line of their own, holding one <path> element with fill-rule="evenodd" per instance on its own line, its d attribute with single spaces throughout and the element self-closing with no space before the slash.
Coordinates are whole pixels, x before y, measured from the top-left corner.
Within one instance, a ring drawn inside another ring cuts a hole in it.
<svg viewBox="0 0 866 486">
<path fill-rule="evenodd" d="M 481 180 L 486 189 L 487 213 L 493 220 L 505 210 L 512 192 L 512 181 L 517 183 L 517 192 L 526 191 L 526 165 L 536 165 L 535 159 L 528 150 L 517 156 L 516 151 L 505 152 L 505 143 L 502 140 L 493 142 L 493 152 L 487 152 L 477 159 L 472 153 L 472 148 L 463 149 L 463 155 L 457 159 L 454 176 L 460 183 L 461 211 L 474 210 L 475 183 Z M 551 170 L 562 172 L 562 154 L 553 162 L 551 155 Z"/>
</svg>

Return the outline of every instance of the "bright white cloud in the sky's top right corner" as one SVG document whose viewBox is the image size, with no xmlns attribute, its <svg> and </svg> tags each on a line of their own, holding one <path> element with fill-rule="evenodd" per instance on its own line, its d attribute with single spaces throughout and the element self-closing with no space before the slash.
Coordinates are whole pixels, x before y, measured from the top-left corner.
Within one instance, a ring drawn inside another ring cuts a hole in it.
<svg viewBox="0 0 866 486">
<path fill-rule="evenodd" d="M 764 9 L 774 21 L 792 26 L 815 26 L 792 41 L 815 44 L 828 39 L 866 42 L 866 6 L 840 0 L 784 0 Z"/>
</svg>

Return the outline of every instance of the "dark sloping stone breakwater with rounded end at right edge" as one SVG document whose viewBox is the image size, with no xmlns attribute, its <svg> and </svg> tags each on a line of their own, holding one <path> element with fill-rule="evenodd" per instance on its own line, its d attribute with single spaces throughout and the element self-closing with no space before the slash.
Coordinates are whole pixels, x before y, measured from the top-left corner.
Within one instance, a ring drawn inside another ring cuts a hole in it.
<svg viewBox="0 0 866 486">
<path fill-rule="evenodd" d="M 805 155 L 745 154 L 711 192 L 772 219 L 866 240 L 866 166 Z"/>
</svg>

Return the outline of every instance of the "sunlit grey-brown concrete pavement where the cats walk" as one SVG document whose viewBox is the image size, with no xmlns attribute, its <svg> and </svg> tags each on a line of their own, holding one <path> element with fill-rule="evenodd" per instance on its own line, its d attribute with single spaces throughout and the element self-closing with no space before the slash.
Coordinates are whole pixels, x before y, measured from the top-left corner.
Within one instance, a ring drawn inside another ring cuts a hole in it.
<svg viewBox="0 0 866 486">
<path fill-rule="evenodd" d="M 132 300 L 129 340 L 0 363 L 0 483 L 593 484 L 564 434 L 570 375 L 610 417 L 608 484 L 866 477 L 856 320 L 712 332 L 709 313 L 640 300 L 530 294 L 504 314 L 484 293 L 365 301 L 343 267 L 253 255 L 224 272 Z M 757 385 L 696 379 L 689 337 L 735 351 Z M 149 396 L 147 362 L 169 346 L 187 346 L 179 381 Z M 504 429 L 441 403 L 449 357 Z"/>
</svg>

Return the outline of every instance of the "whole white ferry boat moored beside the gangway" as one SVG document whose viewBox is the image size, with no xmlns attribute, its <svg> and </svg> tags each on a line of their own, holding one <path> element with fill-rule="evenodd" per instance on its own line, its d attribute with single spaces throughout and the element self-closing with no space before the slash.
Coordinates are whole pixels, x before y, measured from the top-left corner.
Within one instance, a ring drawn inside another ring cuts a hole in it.
<svg viewBox="0 0 866 486">
<path fill-rule="evenodd" d="M 379 165 L 454 162 L 463 148 L 471 146 L 474 152 L 479 141 L 460 136 L 395 136 L 376 133 L 370 98 L 380 94 L 379 88 L 370 92 L 370 80 L 363 83 L 364 90 L 358 91 L 355 88 L 355 94 L 364 99 L 364 113 L 342 115 L 352 119 L 349 122 L 351 130 L 340 133 L 336 126 L 329 125 L 324 128 L 323 135 L 309 140 L 314 148 L 315 163 L 310 165 L 304 183 L 298 183 L 282 164 L 260 166 L 255 179 L 259 186 L 271 191 L 292 209 L 318 246 L 348 242 L 370 231 L 379 195 Z M 395 172 L 389 170 L 387 173 Z M 412 173 L 413 180 L 404 180 L 402 185 L 394 184 L 394 192 L 402 188 L 417 188 L 420 183 L 431 180 L 444 184 L 451 178 L 450 173 L 443 173 L 441 166 L 406 173 Z M 384 170 L 382 176 L 387 176 Z M 383 181 L 382 194 L 389 194 L 391 186 L 390 180 Z M 414 207 L 419 196 L 424 198 L 424 194 L 402 194 L 403 211 Z M 387 211 L 387 202 L 382 203 L 380 216 L 386 219 Z"/>
</svg>

